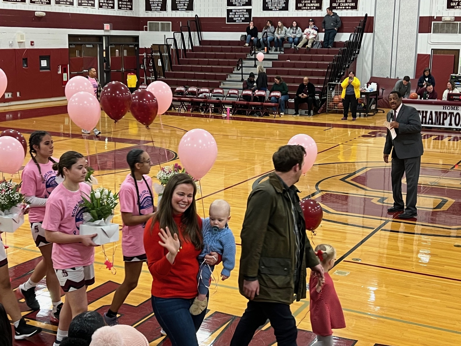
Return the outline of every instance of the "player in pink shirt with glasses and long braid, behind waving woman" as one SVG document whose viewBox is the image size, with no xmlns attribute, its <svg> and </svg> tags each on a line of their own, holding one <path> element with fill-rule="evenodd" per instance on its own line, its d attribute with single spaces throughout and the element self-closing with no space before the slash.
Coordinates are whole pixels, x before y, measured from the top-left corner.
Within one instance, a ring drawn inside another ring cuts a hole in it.
<svg viewBox="0 0 461 346">
<path fill-rule="evenodd" d="M 126 155 L 131 173 L 128 174 L 118 192 L 122 213 L 122 252 L 125 262 L 125 279 L 118 286 L 111 307 L 104 314 L 107 325 L 118 324 L 117 313 L 126 297 L 138 284 L 142 263 L 147 260 L 144 250 L 144 226 L 154 215 L 152 179 L 147 175 L 152 167 L 149 154 L 141 149 L 132 149 Z"/>
</svg>

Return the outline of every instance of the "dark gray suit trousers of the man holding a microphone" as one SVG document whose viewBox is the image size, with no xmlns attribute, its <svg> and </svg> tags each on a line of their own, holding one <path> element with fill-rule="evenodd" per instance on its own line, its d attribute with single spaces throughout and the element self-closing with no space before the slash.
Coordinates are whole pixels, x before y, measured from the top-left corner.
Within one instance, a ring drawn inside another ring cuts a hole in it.
<svg viewBox="0 0 461 346">
<path fill-rule="evenodd" d="M 416 213 L 416 200 L 418 196 L 418 179 L 420 179 L 421 156 L 411 157 L 409 159 L 399 159 L 392 150 L 392 197 L 394 198 L 394 207 L 403 208 L 402 198 L 402 177 L 403 173 L 407 178 L 407 208 L 406 212 Z"/>
</svg>

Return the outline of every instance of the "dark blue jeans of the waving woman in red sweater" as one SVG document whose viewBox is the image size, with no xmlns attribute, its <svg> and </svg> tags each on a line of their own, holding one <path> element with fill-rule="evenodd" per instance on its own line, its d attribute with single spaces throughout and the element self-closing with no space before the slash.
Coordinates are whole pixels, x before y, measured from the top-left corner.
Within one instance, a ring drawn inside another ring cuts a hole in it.
<svg viewBox="0 0 461 346">
<path fill-rule="evenodd" d="M 194 299 L 152 296 L 151 300 L 155 317 L 171 340 L 172 346 L 198 346 L 197 331 L 207 314 L 207 309 L 194 316 L 189 312 Z"/>
</svg>

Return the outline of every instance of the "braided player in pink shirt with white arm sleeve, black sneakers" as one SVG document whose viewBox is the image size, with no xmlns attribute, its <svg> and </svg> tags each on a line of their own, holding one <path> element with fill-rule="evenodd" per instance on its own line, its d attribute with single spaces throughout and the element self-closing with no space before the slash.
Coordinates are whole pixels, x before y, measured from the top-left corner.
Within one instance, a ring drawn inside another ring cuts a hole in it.
<svg viewBox="0 0 461 346">
<path fill-rule="evenodd" d="M 30 206 L 29 222 L 32 238 L 43 259 L 35 266 L 29 280 L 19 285 L 16 292 L 25 299 L 27 306 L 31 310 L 39 310 L 40 304 L 35 298 L 35 286 L 46 275 L 47 289 L 53 303 L 50 320 L 57 323 L 59 321 L 59 312 L 62 308 L 61 288 L 51 259 L 53 244 L 47 242 L 45 230 L 41 227 L 48 197 L 54 188 L 58 186 L 56 183 L 56 171 L 53 170 L 53 164 L 58 160 L 52 157 L 53 138 L 51 138 L 51 135 L 46 131 L 32 132 L 29 137 L 29 153 L 32 158 L 25 165 L 22 173 L 21 192 Z"/>
</svg>

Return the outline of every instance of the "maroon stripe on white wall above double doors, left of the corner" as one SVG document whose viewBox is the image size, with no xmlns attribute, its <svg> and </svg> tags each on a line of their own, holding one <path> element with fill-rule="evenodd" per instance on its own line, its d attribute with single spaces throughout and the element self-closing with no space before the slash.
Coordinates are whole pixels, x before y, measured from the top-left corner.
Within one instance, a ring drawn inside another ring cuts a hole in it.
<svg viewBox="0 0 461 346">
<path fill-rule="evenodd" d="M 35 11 L 7 10 L 2 8 L 0 11 L 0 26 L 102 30 L 104 23 L 112 23 L 113 30 L 139 30 L 139 17 L 46 12 L 46 17 L 35 17 Z M 157 19 L 153 18 L 151 20 Z"/>
</svg>

